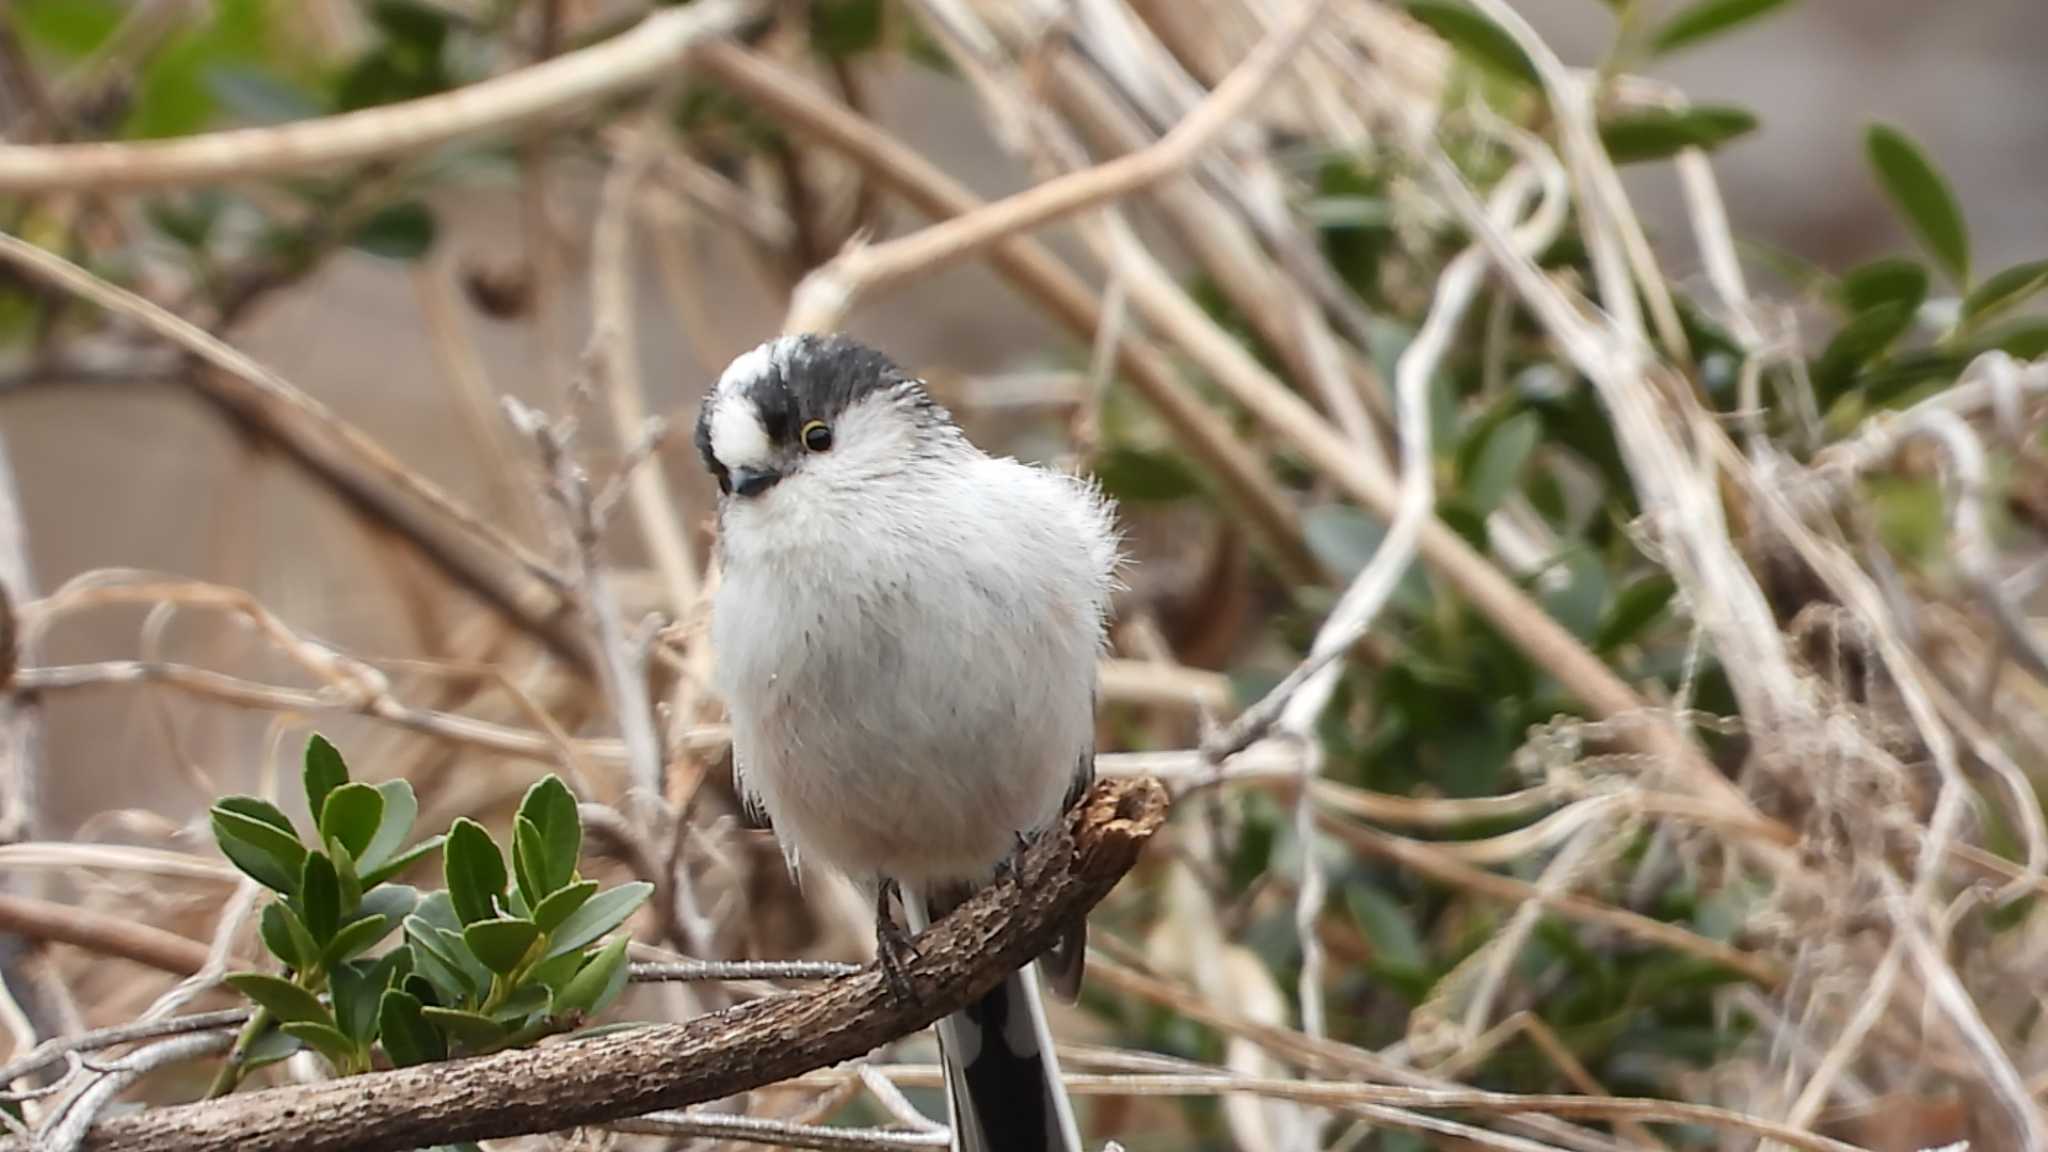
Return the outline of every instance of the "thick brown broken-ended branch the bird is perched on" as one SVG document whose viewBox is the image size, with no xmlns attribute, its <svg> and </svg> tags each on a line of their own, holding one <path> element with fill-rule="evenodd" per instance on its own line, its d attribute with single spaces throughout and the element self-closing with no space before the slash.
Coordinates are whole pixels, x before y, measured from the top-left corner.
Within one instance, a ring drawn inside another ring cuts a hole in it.
<svg viewBox="0 0 2048 1152">
<path fill-rule="evenodd" d="M 92 1152 L 395 1152 L 604 1123 L 745 1093 L 926 1027 L 1053 945 L 1165 820 L 1159 783 L 1100 781 L 1061 834 L 920 939 L 913 998 L 877 968 L 680 1025 L 109 1117 Z M 506 1105 L 504 1101 L 516 1101 Z M 20 1140 L 0 1152 L 23 1152 Z"/>
</svg>

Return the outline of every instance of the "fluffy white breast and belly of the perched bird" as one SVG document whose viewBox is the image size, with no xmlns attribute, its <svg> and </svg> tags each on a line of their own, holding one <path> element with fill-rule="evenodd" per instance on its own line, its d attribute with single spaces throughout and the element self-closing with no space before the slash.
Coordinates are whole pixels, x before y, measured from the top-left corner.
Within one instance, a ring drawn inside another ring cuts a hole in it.
<svg viewBox="0 0 2048 1152">
<path fill-rule="evenodd" d="M 713 642 L 737 763 L 795 853 L 979 877 L 1057 816 L 1092 746 L 1108 508 L 965 441 L 868 455 L 856 420 L 725 508 Z"/>
</svg>

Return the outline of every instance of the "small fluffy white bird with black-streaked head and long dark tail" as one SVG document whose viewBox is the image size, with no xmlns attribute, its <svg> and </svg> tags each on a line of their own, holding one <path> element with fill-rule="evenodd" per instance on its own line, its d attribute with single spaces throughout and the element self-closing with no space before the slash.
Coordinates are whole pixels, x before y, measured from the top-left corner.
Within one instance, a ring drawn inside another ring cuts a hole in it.
<svg viewBox="0 0 2048 1152">
<path fill-rule="evenodd" d="M 717 689 L 741 791 L 784 853 L 877 898 L 877 945 L 987 886 L 1094 779 L 1116 568 L 1087 482 L 971 445 L 924 383 L 844 336 L 741 355 L 705 400 L 719 482 Z M 1042 965 L 1081 976 L 1081 927 Z M 940 1021 L 963 1152 L 1079 1152 L 1034 965 Z"/>
</svg>

